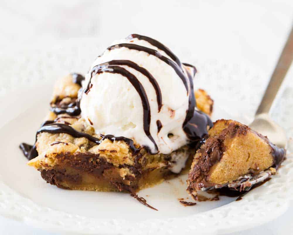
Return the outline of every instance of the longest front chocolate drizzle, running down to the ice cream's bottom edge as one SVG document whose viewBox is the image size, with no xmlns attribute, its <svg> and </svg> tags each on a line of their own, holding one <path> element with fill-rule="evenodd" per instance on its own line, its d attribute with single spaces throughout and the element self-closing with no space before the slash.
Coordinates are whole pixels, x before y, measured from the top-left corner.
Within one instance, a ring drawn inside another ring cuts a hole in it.
<svg viewBox="0 0 293 235">
<path fill-rule="evenodd" d="M 151 136 L 150 133 L 150 124 L 151 124 L 151 109 L 149 106 L 149 100 L 147 98 L 147 93 L 144 90 L 143 85 L 139 82 L 139 80 L 130 72 L 128 72 L 125 68 L 116 66 L 116 65 L 98 65 L 93 68 L 91 71 L 91 78 L 95 74 L 100 74 L 100 73 L 119 73 L 125 78 L 127 78 L 130 83 L 133 85 L 137 93 L 139 94 L 141 101 L 142 101 L 142 107 L 143 107 L 143 126 L 144 126 L 144 132 L 147 135 L 147 137 L 151 140 L 151 142 L 154 143 L 156 151 L 158 151 L 158 146 L 156 142 L 154 141 L 154 138 Z M 88 82 L 88 86 L 86 90 L 84 91 L 85 93 L 88 91 L 91 85 L 91 78 Z M 156 154 L 157 152 L 153 153 Z"/>
</svg>

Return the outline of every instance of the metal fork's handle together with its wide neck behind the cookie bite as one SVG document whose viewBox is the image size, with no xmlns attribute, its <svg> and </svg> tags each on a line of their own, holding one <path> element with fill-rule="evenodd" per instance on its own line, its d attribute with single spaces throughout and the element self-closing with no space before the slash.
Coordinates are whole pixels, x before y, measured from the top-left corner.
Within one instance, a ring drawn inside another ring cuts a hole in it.
<svg viewBox="0 0 293 235">
<path fill-rule="evenodd" d="M 289 34 L 285 47 L 272 74 L 263 99 L 255 113 L 254 121 L 249 125 L 251 129 L 268 137 L 275 145 L 285 148 L 286 133 L 277 123 L 271 120 L 269 112 L 277 92 L 290 68 L 293 59 L 293 28 Z"/>
</svg>

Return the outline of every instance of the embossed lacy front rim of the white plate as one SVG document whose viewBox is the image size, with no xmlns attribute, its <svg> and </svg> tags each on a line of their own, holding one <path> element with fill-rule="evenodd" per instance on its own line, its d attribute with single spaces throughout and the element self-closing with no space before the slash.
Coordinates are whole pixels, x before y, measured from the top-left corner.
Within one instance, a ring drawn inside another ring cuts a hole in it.
<svg viewBox="0 0 293 235">
<path fill-rule="evenodd" d="M 35 84 L 30 83 L 28 89 L 34 87 Z M 1 98 L 5 99 L 8 95 L 4 94 Z M 5 125 L 1 125 L 3 126 Z M 288 145 L 292 149 L 292 140 Z M 0 215 L 41 229 L 70 234 L 178 234 L 199 231 L 223 234 L 249 229 L 282 215 L 288 209 L 289 201 L 293 199 L 293 188 L 287 187 L 292 183 L 293 157 L 288 154 L 278 175 L 259 188 L 263 190 L 255 189 L 241 201 L 183 218 L 149 219 L 130 223 L 126 220 L 87 218 L 39 206 L 5 185 L 0 175 Z"/>
</svg>

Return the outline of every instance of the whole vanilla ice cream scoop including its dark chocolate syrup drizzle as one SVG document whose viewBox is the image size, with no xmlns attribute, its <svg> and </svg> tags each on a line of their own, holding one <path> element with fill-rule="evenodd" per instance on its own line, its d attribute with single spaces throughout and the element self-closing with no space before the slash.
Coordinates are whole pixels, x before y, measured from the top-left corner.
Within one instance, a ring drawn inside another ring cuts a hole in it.
<svg viewBox="0 0 293 235">
<path fill-rule="evenodd" d="M 112 45 L 93 62 L 80 101 L 96 134 L 130 138 L 152 154 L 169 154 L 207 134 L 212 122 L 195 107 L 195 67 L 146 36 Z"/>
</svg>

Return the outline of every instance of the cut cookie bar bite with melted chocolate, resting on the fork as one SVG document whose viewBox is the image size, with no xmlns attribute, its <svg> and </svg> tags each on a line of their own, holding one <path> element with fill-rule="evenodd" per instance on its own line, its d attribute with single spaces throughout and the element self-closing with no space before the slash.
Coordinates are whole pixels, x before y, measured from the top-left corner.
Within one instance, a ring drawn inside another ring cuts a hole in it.
<svg viewBox="0 0 293 235">
<path fill-rule="evenodd" d="M 187 190 L 198 199 L 197 191 L 202 188 L 231 183 L 270 167 L 277 169 L 284 157 L 284 149 L 248 126 L 233 120 L 217 120 L 194 156 Z"/>
</svg>

